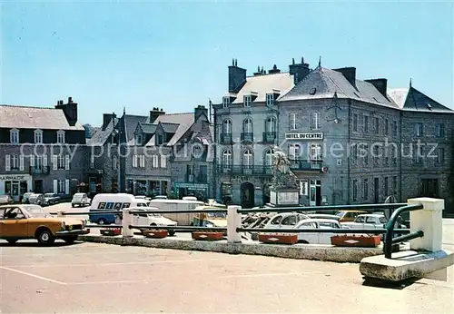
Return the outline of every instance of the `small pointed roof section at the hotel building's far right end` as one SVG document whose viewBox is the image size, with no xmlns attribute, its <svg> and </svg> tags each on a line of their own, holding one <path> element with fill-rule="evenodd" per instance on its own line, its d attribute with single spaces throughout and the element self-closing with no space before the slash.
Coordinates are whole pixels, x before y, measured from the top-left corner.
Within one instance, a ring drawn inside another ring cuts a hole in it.
<svg viewBox="0 0 454 314">
<path fill-rule="evenodd" d="M 454 113 L 453 110 L 434 101 L 416 88 L 399 88 L 388 92 L 391 98 L 398 103 L 404 111 L 428 113 Z"/>
</svg>

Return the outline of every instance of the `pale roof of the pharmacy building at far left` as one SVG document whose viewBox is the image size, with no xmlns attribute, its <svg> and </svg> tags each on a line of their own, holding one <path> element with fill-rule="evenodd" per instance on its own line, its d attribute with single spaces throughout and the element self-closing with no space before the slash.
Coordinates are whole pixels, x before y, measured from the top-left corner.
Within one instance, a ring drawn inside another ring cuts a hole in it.
<svg viewBox="0 0 454 314">
<path fill-rule="evenodd" d="M 0 105 L 0 127 L 17 129 L 42 129 L 84 131 L 77 122 L 70 126 L 62 109 Z"/>
</svg>

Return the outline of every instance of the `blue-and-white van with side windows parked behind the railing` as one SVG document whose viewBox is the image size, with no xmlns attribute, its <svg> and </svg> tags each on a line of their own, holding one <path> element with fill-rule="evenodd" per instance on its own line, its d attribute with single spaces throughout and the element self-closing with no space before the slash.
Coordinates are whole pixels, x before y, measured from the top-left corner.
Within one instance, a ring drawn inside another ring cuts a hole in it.
<svg viewBox="0 0 454 314">
<path fill-rule="evenodd" d="M 148 207 L 147 200 L 136 199 L 127 193 L 100 193 L 94 196 L 90 206 L 89 221 L 97 224 L 115 223 L 114 213 L 96 213 L 96 211 L 123 211 L 130 207 Z"/>
</svg>

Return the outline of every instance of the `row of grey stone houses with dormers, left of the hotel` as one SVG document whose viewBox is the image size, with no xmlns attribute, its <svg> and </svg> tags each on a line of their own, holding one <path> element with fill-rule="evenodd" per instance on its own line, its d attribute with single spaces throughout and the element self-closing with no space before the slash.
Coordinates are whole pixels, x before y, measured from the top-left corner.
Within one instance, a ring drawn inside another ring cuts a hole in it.
<svg viewBox="0 0 454 314">
<path fill-rule="evenodd" d="M 88 141 L 92 186 L 101 191 L 182 198 L 212 196 L 212 127 L 207 109 L 166 114 L 153 108 L 148 116 L 117 118 L 104 113 L 103 126 Z M 195 154 L 199 153 L 199 154 Z M 118 182 L 120 182 L 118 184 Z"/>
</svg>

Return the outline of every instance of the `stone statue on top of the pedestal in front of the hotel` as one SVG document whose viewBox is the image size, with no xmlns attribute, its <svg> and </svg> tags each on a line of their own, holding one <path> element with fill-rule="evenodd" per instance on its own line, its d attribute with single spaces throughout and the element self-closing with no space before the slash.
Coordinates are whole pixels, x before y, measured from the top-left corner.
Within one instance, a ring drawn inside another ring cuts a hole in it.
<svg viewBox="0 0 454 314">
<path fill-rule="evenodd" d="M 274 146 L 273 150 L 273 161 L 272 161 L 272 186 L 271 189 L 299 189 L 298 178 L 291 172 L 291 162 L 285 155 L 285 152 L 280 147 Z"/>
</svg>

